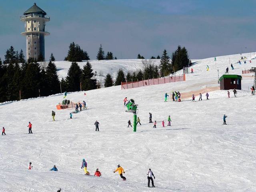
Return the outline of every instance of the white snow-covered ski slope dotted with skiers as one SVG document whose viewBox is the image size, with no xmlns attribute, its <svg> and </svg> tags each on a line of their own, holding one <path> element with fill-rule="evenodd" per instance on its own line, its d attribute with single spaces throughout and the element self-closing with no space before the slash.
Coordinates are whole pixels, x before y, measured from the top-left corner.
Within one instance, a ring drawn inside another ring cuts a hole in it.
<svg viewBox="0 0 256 192">
<path fill-rule="evenodd" d="M 243 54 L 250 59 L 250 53 Z M 194 74 L 186 81 L 121 90 L 120 86 L 68 93 L 73 102 L 86 101 L 87 110 L 73 114 L 74 109 L 56 110 L 63 95 L 32 98 L 0 104 L 0 126 L 6 136 L 0 138 L 1 192 L 254 192 L 256 191 L 256 95 L 249 88 L 253 74 L 245 74 L 242 90 L 234 98 L 230 90 L 209 93 L 209 100 L 164 102 L 164 93 L 189 92 L 218 85 L 219 77 L 233 63 L 230 74 L 241 75 L 242 69 L 256 66 L 234 64 L 239 55 L 192 60 Z M 102 75 L 118 69 L 118 61 L 91 62 Z M 65 76 L 69 62 L 55 62 L 59 76 Z M 85 64 L 86 62 L 84 62 Z M 142 68 L 139 60 L 122 60 L 128 70 Z M 210 67 L 206 71 L 206 65 Z M 111 68 L 114 68 L 111 70 Z M 177 72 L 179 74 L 181 72 Z M 123 99 L 138 104 L 141 126 L 137 132 L 127 128 L 132 113 L 125 112 Z M 55 122 L 51 112 L 56 112 Z M 157 121 L 156 128 L 149 124 Z M 223 115 L 227 125 L 222 125 Z M 171 116 L 171 125 L 167 118 Z M 94 122 L 100 123 L 95 131 Z M 161 121 L 166 127 L 162 127 Z M 28 122 L 33 134 L 28 133 Z M 85 176 L 82 159 L 91 175 L 99 168 L 102 177 Z M 28 170 L 32 162 L 33 169 Z M 120 164 L 127 180 L 113 171 Z M 58 172 L 49 171 L 54 165 Z M 147 188 L 148 168 L 156 176 L 157 188 Z"/>
</svg>

